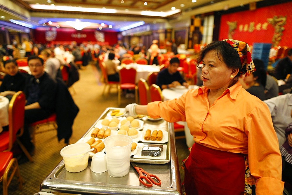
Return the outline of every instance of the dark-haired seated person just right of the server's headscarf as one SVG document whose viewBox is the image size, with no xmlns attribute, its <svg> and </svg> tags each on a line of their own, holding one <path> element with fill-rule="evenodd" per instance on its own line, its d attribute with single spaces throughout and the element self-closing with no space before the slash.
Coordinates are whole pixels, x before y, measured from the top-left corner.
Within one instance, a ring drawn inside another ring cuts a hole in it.
<svg viewBox="0 0 292 195">
<path fill-rule="evenodd" d="M 252 74 L 244 77 L 244 83 L 247 86 L 243 87 L 246 91 L 248 91 L 251 95 L 258 97 L 260 100 L 265 100 L 265 86 L 267 81 L 267 74 L 265 69 L 254 64 L 256 71 Z"/>
</svg>

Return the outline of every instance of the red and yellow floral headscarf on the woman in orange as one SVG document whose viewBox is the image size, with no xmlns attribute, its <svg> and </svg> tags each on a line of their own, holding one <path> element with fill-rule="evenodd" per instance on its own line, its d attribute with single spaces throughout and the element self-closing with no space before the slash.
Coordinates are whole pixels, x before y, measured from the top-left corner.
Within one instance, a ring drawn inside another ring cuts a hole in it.
<svg viewBox="0 0 292 195">
<path fill-rule="evenodd" d="M 234 39 L 225 39 L 223 41 L 229 43 L 238 52 L 241 61 L 241 74 L 246 73 L 246 76 L 248 76 L 256 71 L 253 60 L 251 59 L 251 49 L 247 43 Z"/>
</svg>

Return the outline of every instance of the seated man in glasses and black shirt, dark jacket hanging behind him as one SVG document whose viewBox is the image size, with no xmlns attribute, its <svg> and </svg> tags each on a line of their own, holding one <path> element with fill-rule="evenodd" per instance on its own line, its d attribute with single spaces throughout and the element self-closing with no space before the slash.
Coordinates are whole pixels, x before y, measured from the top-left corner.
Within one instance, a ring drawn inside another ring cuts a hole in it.
<svg viewBox="0 0 292 195">
<path fill-rule="evenodd" d="M 31 71 L 31 78 L 25 83 L 25 119 L 24 132 L 20 141 L 29 152 L 33 152 L 34 145 L 29 135 L 29 124 L 48 118 L 55 111 L 55 95 L 57 82 L 44 71 L 44 60 L 38 56 L 30 56 L 27 60 Z"/>
</svg>

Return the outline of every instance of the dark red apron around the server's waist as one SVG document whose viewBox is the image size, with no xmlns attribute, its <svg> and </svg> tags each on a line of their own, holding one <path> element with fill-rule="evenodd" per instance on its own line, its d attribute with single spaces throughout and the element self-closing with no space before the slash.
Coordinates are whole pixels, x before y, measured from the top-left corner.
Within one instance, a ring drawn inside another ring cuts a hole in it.
<svg viewBox="0 0 292 195">
<path fill-rule="evenodd" d="M 194 144 L 185 162 L 187 195 L 244 194 L 243 154 L 211 149 Z"/>
</svg>

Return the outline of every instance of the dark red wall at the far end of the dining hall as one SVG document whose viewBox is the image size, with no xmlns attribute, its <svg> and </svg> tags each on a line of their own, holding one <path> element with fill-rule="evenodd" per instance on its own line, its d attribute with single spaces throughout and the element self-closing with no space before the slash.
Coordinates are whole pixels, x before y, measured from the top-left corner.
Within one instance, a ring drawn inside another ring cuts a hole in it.
<svg viewBox="0 0 292 195">
<path fill-rule="evenodd" d="M 46 31 L 48 28 L 38 28 L 34 29 L 34 38 L 38 43 L 48 43 L 46 41 Z M 78 44 L 87 41 L 97 41 L 95 39 L 95 29 L 83 29 L 83 30 L 75 30 L 69 28 L 56 29 L 57 35 L 53 41 L 76 41 Z M 108 42 L 109 45 L 114 45 L 118 41 L 118 33 L 117 32 L 104 32 L 105 42 Z"/>
</svg>

